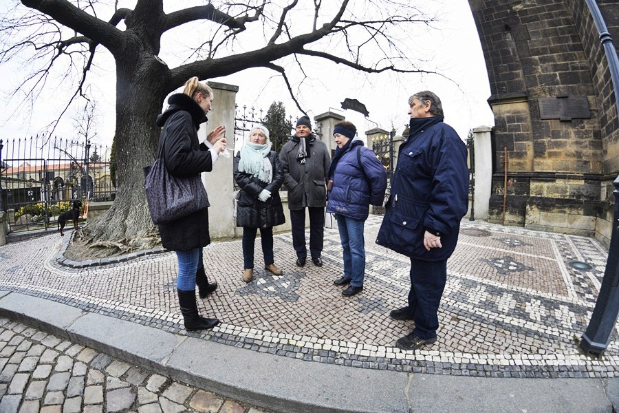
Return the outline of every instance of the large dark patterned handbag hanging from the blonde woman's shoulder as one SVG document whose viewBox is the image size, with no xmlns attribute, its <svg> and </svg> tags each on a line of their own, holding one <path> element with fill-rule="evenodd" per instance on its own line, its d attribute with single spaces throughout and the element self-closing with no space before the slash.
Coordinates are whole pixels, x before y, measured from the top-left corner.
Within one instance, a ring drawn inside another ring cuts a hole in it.
<svg viewBox="0 0 619 413">
<path fill-rule="evenodd" d="M 144 190 L 155 224 L 166 224 L 209 207 L 199 173 L 191 178 L 177 178 L 169 173 L 162 156 L 166 128 L 162 134 L 164 142 L 157 159 L 153 165 L 144 168 Z"/>
</svg>

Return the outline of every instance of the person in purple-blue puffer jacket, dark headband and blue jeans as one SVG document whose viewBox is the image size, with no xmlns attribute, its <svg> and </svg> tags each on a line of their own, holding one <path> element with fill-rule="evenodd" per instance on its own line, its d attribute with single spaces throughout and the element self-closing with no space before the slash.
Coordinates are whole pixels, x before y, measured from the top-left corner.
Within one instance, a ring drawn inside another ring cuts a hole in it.
<svg viewBox="0 0 619 413">
<path fill-rule="evenodd" d="M 338 222 L 344 249 L 344 275 L 333 284 L 345 286 L 342 295 L 350 297 L 363 290 L 365 242 L 363 225 L 369 205 L 382 205 L 387 189 L 387 173 L 376 155 L 355 138 L 357 128 L 350 122 L 337 123 L 333 136 L 338 145 L 327 176 L 327 212 Z"/>
</svg>

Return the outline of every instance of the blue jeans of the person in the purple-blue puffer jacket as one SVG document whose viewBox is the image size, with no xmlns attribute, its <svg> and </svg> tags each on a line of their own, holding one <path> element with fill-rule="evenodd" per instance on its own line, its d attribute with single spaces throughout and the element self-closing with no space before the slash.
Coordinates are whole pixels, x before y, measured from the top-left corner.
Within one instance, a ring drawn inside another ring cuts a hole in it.
<svg viewBox="0 0 619 413">
<path fill-rule="evenodd" d="M 344 278 L 350 279 L 350 285 L 363 286 L 365 275 L 365 241 L 363 224 L 365 220 L 354 220 L 336 214 L 340 240 L 344 248 Z"/>
</svg>

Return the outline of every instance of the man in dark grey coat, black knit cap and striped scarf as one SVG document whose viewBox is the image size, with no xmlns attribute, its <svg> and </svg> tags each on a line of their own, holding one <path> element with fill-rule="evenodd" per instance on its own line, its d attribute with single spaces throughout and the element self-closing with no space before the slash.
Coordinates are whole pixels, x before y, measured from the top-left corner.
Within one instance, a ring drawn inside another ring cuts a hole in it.
<svg viewBox="0 0 619 413">
<path fill-rule="evenodd" d="M 304 266 L 305 208 L 310 215 L 310 254 L 316 266 L 322 266 L 323 236 L 327 187 L 325 178 L 331 165 L 327 145 L 312 134 L 310 118 L 301 116 L 296 121 L 296 134 L 283 145 L 279 160 L 284 170 L 284 185 L 288 190 L 288 209 L 292 226 L 292 246 L 296 251 L 296 265 Z"/>
</svg>

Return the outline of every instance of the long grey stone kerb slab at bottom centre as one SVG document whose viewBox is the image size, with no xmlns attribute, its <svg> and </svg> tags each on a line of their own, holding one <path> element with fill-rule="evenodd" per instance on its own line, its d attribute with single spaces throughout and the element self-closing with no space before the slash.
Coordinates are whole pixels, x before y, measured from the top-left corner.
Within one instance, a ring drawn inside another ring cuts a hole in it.
<svg viewBox="0 0 619 413">
<path fill-rule="evenodd" d="M 166 363 L 175 377 L 287 412 L 408 412 L 401 372 L 346 369 L 189 338 Z"/>
</svg>

